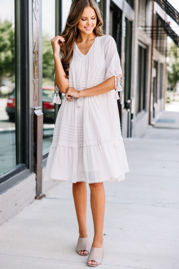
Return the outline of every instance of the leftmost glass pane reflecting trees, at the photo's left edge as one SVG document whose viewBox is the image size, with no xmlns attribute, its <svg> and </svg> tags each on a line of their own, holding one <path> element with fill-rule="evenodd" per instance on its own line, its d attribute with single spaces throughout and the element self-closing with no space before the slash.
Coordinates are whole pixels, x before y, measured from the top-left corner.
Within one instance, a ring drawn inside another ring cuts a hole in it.
<svg viewBox="0 0 179 269">
<path fill-rule="evenodd" d="M 0 174 L 16 165 L 14 1 L 0 8 Z"/>
</svg>

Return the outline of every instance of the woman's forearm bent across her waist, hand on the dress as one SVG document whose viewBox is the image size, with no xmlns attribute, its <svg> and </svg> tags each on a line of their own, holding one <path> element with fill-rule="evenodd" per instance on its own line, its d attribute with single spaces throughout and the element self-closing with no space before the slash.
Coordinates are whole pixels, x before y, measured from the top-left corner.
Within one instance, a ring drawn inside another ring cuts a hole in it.
<svg viewBox="0 0 179 269">
<path fill-rule="evenodd" d="M 119 74 L 118 77 L 121 78 L 121 74 Z M 71 101 L 72 100 L 71 96 L 76 97 L 76 98 L 94 96 L 94 95 L 106 93 L 108 91 L 112 91 L 114 89 L 115 89 L 115 77 L 110 77 L 104 82 L 94 87 L 82 90 L 82 91 L 77 91 L 74 88 L 70 87 L 68 88 L 65 94 L 65 97 L 67 97 L 67 100 Z"/>
</svg>

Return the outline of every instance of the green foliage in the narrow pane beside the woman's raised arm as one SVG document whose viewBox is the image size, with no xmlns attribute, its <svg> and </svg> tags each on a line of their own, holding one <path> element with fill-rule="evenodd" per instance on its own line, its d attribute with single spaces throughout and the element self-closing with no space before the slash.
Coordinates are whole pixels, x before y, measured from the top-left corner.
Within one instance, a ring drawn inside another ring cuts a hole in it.
<svg viewBox="0 0 179 269">
<path fill-rule="evenodd" d="M 42 37 L 42 54 L 43 54 L 43 78 L 50 78 L 54 81 L 54 60 L 53 49 L 50 38 L 46 35 Z"/>
</svg>

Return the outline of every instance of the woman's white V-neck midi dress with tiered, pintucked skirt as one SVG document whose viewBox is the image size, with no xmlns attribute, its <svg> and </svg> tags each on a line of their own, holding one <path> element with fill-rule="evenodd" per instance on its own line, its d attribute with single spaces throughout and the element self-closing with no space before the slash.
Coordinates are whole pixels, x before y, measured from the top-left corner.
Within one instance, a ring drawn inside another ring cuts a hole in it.
<svg viewBox="0 0 179 269">
<path fill-rule="evenodd" d="M 124 180 L 129 171 L 121 136 L 117 91 L 122 74 L 115 40 L 97 36 L 84 55 L 74 45 L 69 85 L 81 91 L 115 76 L 116 90 L 63 99 L 47 158 L 45 180 L 98 183 Z"/>
</svg>

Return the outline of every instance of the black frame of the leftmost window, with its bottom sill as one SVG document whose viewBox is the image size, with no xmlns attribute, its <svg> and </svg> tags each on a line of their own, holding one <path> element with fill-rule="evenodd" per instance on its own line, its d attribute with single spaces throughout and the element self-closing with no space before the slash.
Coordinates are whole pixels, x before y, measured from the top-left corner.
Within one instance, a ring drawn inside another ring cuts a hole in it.
<svg viewBox="0 0 179 269">
<path fill-rule="evenodd" d="M 29 174 L 29 1 L 15 0 L 16 163 L 0 175 L 0 192 Z M 21 173 L 20 173 L 21 172 Z M 20 175 L 20 174 L 21 175 Z M 19 174 L 17 177 L 16 175 Z M 12 180 L 11 180 L 12 179 Z"/>
</svg>

